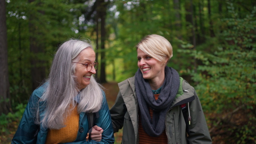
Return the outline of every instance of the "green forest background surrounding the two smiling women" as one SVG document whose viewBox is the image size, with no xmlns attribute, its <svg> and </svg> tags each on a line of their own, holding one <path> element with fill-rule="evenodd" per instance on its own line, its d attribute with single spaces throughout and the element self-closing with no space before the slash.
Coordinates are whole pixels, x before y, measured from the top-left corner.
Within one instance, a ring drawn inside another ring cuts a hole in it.
<svg viewBox="0 0 256 144">
<path fill-rule="evenodd" d="M 166 37 L 168 66 L 195 87 L 214 144 L 256 143 L 256 0 L 0 0 L 0 143 L 10 143 L 56 48 L 91 40 L 112 107 L 135 45 Z M 122 130 L 115 134 L 120 143 Z"/>
</svg>

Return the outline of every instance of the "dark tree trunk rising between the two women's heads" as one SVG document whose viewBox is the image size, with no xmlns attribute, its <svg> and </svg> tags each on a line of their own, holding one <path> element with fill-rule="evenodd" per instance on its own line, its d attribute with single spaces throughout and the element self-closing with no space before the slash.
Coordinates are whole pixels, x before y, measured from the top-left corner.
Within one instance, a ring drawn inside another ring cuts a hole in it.
<svg viewBox="0 0 256 144">
<path fill-rule="evenodd" d="M 106 39 L 106 29 L 105 20 L 107 15 L 106 2 L 104 0 L 99 0 L 99 18 L 101 19 L 101 65 L 100 65 L 100 82 L 106 83 L 106 60 L 105 60 L 105 39 Z"/>
</svg>

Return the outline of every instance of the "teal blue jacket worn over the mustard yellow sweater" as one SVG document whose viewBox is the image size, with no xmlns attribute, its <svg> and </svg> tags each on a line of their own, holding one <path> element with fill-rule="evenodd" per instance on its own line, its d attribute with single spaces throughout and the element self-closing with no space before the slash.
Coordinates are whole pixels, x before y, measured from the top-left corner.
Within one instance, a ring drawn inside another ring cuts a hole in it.
<svg viewBox="0 0 256 144">
<path fill-rule="evenodd" d="M 46 84 L 35 89 L 29 98 L 29 103 L 21 118 L 19 127 L 12 139 L 12 144 L 44 144 L 47 137 L 47 128 L 42 125 L 35 124 L 35 113 L 38 108 L 38 101 L 44 93 Z M 79 115 L 79 130 L 77 132 L 76 140 L 67 144 L 113 144 L 113 128 L 111 124 L 111 116 L 108 108 L 108 104 L 103 92 L 104 100 L 102 102 L 102 108 L 99 110 L 99 118 L 96 119 L 95 125 L 103 129 L 102 140 L 100 142 L 88 140 L 86 136 L 88 132 L 87 115 L 81 112 Z M 45 102 L 39 102 L 40 119 L 43 118 L 45 109 Z"/>
</svg>

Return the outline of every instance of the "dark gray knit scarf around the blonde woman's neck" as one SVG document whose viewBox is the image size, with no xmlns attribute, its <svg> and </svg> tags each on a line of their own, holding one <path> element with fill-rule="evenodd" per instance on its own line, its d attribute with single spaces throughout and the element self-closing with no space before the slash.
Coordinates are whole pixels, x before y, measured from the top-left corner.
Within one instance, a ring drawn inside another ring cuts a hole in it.
<svg viewBox="0 0 256 144">
<path fill-rule="evenodd" d="M 143 130 L 152 137 L 157 137 L 165 129 L 166 113 L 174 100 L 180 86 L 178 72 L 165 67 L 165 79 L 157 100 L 154 98 L 148 80 L 143 78 L 140 69 L 135 73 L 135 91 L 140 108 L 140 119 Z M 153 118 L 149 114 L 149 107 L 153 110 Z"/>
</svg>

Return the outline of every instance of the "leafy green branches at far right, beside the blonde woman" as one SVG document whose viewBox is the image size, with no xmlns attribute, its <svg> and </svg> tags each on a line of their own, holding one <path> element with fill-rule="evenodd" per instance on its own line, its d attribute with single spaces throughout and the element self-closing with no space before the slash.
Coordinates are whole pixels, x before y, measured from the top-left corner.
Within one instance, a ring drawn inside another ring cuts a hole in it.
<svg viewBox="0 0 256 144">
<path fill-rule="evenodd" d="M 206 80 L 204 84 L 207 85 L 200 89 L 212 93 L 211 97 L 218 100 L 218 103 L 221 103 L 220 99 L 223 99 L 224 95 L 227 95 L 227 99 L 222 102 L 236 99 L 230 101 L 235 104 L 231 107 L 254 104 L 256 100 L 256 20 L 253 19 L 255 11 L 256 8 L 247 18 L 239 19 L 231 9 L 233 17 L 223 19 L 229 29 L 225 29 L 219 35 L 220 38 L 224 37 L 224 41 L 217 46 L 218 50 L 212 54 L 195 53 L 196 58 L 203 61 L 204 66 L 198 66 L 201 73 L 195 74 L 194 80 Z M 222 107 L 219 107 L 213 112 L 221 111 Z"/>
</svg>

